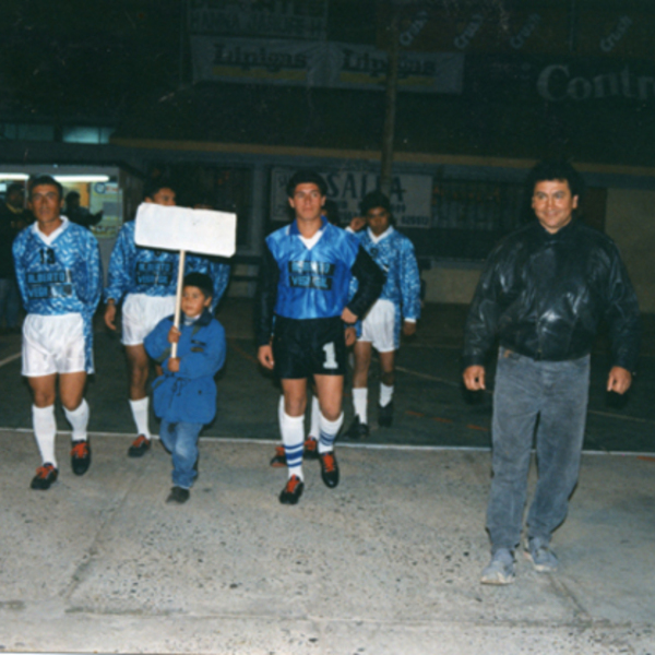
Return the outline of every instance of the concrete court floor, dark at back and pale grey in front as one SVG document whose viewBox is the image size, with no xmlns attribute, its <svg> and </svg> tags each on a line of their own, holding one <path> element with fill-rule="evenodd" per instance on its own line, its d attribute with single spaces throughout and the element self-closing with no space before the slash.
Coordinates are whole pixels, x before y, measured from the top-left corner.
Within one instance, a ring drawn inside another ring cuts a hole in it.
<svg viewBox="0 0 655 655">
<path fill-rule="evenodd" d="M 38 455 L 20 340 L 0 337 L 0 653 L 655 655 L 648 341 L 627 402 L 605 394 L 602 341 L 595 352 L 585 448 L 596 454 L 553 540 L 561 571 L 520 558 L 514 585 L 488 587 L 490 394 L 460 386 L 462 308 L 427 308 L 400 354 L 394 427 L 337 446 L 335 490 L 306 463 L 293 508 L 277 501 L 284 471 L 267 465 L 278 392 L 257 371 L 249 308 L 221 310 L 219 414 L 182 507 L 164 502 L 170 458 L 158 443 L 126 456 L 122 353 L 102 329 L 92 467 L 72 475 L 60 433 L 58 483 L 29 490 Z"/>
</svg>

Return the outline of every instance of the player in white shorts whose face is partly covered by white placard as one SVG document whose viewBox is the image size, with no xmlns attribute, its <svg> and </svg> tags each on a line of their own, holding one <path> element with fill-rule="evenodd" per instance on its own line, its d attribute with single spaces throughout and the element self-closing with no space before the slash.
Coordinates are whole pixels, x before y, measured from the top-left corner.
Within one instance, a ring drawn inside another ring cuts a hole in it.
<svg viewBox="0 0 655 655">
<path fill-rule="evenodd" d="M 172 183 L 162 178 L 151 182 L 145 189 L 144 202 L 174 206 L 176 191 Z M 162 319 L 175 311 L 179 254 L 170 250 L 138 247 L 134 227 L 133 221 L 123 225 L 111 252 L 105 289 L 105 323 L 110 330 L 116 330 L 117 305 L 123 300 L 122 343 L 130 376 L 130 409 L 138 432 L 128 455 L 140 457 L 151 446 L 150 398 L 146 393 L 150 367 L 143 340 Z M 213 311 L 227 287 L 229 265 L 189 254 L 186 272 L 210 275 L 214 283 Z"/>
</svg>

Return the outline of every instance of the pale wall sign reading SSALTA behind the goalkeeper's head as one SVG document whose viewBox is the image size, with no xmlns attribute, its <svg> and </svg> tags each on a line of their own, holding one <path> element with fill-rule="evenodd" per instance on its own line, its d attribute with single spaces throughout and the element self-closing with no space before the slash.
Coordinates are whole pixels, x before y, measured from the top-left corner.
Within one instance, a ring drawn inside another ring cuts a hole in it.
<svg viewBox="0 0 655 655">
<path fill-rule="evenodd" d="M 338 207 L 341 225 L 346 226 L 359 216 L 364 196 L 374 191 L 380 176 L 364 170 L 320 171 L 327 182 L 327 200 Z M 288 223 L 293 215 L 286 194 L 286 184 L 294 169 L 274 168 L 271 172 L 271 218 Z M 390 193 L 391 209 L 396 225 L 403 227 L 431 227 L 432 177 L 429 175 L 396 175 Z"/>
</svg>

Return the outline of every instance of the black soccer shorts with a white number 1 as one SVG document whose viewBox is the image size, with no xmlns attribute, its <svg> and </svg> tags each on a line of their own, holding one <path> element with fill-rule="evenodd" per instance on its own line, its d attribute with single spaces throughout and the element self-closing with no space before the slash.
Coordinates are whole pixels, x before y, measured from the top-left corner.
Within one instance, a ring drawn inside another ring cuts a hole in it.
<svg viewBox="0 0 655 655">
<path fill-rule="evenodd" d="M 345 376 L 347 349 L 341 317 L 285 319 L 275 317 L 273 358 L 282 380 Z"/>
</svg>

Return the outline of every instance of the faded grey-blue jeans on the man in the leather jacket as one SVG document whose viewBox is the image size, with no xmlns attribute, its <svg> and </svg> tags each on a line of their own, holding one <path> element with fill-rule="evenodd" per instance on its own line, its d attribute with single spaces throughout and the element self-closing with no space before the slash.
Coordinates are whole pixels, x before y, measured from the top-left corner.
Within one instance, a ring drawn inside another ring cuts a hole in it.
<svg viewBox="0 0 655 655">
<path fill-rule="evenodd" d="M 577 483 L 590 385 L 590 356 L 535 361 L 500 348 L 493 392 L 493 479 L 487 508 L 492 551 L 521 540 L 527 473 L 537 416 L 538 481 L 528 538 L 550 541 Z"/>
</svg>

